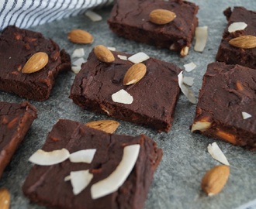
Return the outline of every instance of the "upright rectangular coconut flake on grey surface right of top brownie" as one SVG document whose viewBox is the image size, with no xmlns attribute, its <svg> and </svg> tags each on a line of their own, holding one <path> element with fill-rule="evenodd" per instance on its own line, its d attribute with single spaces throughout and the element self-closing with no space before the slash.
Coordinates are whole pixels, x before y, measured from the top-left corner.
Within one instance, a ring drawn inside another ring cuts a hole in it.
<svg viewBox="0 0 256 209">
<path fill-rule="evenodd" d="M 195 29 L 195 47 L 194 50 L 196 52 L 202 52 L 206 46 L 206 41 L 207 41 L 207 32 L 208 27 L 203 26 L 203 27 L 196 27 Z"/>
</svg>

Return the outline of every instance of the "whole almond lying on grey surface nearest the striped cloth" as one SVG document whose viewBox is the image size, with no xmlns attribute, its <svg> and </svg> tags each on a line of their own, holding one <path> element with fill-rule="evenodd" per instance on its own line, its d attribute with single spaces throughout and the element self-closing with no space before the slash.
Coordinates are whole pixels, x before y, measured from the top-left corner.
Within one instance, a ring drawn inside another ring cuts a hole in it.
<svg viewBox="0 0 256 209">
<path fill-rule="evenodd" d="M 82 29 L 73 29 L 68 33 L 67 38 L 73 43 L 92 43 L 93 36 Z"/>
</svg>

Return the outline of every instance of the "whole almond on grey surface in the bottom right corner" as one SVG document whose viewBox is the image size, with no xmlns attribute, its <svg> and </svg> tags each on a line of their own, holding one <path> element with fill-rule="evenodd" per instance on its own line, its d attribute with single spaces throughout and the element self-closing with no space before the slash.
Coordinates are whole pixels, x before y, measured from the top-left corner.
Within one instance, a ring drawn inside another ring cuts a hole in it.
<svg viewBox="0 0 256 209">
<path fill-rule="evenodd" d="M 213 167 L 211 170 L 208 170 L 205 176 L 202 178 L 202 190 L 209 196 L 220 193 L 220 191 L 227 183 L 229 175 L 229 166 L 220 165 Z"/>
</svg>

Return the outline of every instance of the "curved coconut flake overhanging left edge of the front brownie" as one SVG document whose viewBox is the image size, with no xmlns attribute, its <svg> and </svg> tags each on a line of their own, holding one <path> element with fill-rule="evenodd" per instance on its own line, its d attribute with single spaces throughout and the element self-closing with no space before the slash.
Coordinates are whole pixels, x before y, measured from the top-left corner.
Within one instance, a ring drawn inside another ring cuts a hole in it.
<svg viewBox="0 0 256 209">
<path fill-rule="evenodd" d="M 51 166 L 63 162 L 69 158 L 69 156 L 70 154 L 67 149 L 57 149 L 51 152 L 38 149 L 29 157 L 29 161 L 40 166 Z"/>
</svg>

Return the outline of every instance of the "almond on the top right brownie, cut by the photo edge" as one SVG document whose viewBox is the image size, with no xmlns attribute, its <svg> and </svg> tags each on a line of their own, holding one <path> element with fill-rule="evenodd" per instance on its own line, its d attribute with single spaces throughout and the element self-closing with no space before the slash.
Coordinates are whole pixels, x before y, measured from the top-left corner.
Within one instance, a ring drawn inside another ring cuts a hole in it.
<svg viewBox="0 0 256 209">
<path fill-rule="evenodd" d="M 256 36 L 239 36 L 234 39 L 230 39 L 230 45 L 236 46 L 241 49 L 252 49 L 256 47 Z"/>
</svg>

